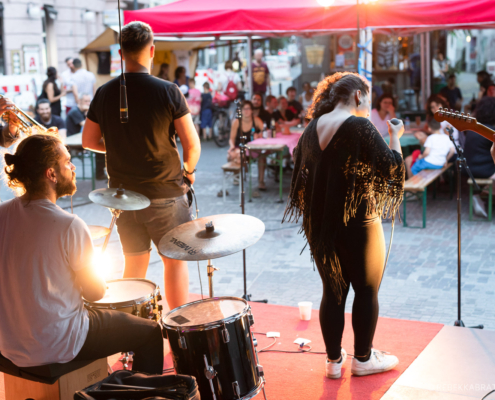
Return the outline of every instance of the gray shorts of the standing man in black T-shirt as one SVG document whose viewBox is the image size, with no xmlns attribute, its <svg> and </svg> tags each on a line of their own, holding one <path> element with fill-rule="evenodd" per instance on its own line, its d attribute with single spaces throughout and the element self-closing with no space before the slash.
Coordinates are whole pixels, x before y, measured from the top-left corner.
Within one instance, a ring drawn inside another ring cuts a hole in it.
<svg viewBox="0 0 495 400">
<path fill-rule="evenodd" d="M 161 238 L 171 229 L 192 220 L 187 196 L 154 199 L 148 208 L 124 211 L 117 219 L 117 232 L 124 255 L 139 256 L 158 248 Z"/>
</svg>

